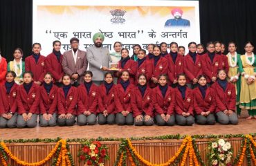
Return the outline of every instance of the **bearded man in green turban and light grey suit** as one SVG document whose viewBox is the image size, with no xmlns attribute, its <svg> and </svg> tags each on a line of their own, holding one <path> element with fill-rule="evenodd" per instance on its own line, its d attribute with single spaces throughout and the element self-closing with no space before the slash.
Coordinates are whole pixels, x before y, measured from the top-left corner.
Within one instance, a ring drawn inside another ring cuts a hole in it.
<svg viewBox="0 0 256 166">
<path fill-rule="evenodd" d="M 94 46 L 87 48 L 87 59 L 89 70 L 93 72 L 93 82 L 97 85 L 102 84 L 105 71 L 109 71 L 109 49 L 102 47 L 104 35 L 95 33 L 93 35 Z"/>
</svg>

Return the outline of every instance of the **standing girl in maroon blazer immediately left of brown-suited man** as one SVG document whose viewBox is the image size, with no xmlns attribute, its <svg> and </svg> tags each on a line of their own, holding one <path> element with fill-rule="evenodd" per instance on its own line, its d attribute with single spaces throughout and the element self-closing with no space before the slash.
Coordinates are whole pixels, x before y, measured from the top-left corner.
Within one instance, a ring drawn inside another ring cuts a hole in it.
<svg viewBox="0 0 256 166">
<path fill-rule="evenodd" d="M 64 71 L 62 69 L 63 55 L 60 53 L 62 44 L 60 41 L 55 40 L 53 42 L 53 53 L 46 57 L 46 71 L 52 73 L 53 83 L 57 86 L 62 86 L 62 77 Z"/>
</svg>

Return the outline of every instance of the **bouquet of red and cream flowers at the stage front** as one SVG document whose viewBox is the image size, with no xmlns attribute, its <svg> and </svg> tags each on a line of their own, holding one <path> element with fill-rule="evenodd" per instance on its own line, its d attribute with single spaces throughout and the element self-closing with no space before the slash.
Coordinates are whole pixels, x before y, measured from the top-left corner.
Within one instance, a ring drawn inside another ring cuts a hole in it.
<svg viewBox="0 0 256 166">
<path fill-rule="evenodd" d="M 78 157 L 86 166 L 104 166 L 104 160 L 109 160 L 108 147 L 99 141 L 86 141 L 82 145 Z"/>
</svg>

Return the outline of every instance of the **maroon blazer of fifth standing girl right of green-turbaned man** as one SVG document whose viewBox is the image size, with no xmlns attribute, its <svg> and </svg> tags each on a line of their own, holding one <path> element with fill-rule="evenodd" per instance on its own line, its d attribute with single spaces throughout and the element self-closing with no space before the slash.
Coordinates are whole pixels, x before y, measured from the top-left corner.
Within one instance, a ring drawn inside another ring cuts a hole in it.
<svg viewBox="0 0 256 166">
<path fill-rule="evenodd" d="M 184 73 L 187 77 L 187 83 L 192 83 L 193 79 L 199 77 L 203 73 L 201 55 L 196 55 L 196 62 L 194 63 L 190 54 L 184 57 Z"/>
</svg>

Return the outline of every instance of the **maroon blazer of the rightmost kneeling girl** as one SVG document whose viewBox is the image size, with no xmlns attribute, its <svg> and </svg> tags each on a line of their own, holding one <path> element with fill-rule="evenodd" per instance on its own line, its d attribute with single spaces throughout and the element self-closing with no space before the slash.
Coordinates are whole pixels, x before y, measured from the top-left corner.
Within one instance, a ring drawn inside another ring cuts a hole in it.
<svg viewBox="0 0 256 166">
<path fill-rule="evenodd" d="M 221 86 L 219 85 L 218 82 L 214 82 L 212 84 L 212 89 L 216 91 L 216 112 L 219 111 L 224 111 L 224 110 L 232 110 L 235 112 L 235 107 L 236 107 L 236 91 L 235 91 L 235 86 L 228 82 L 226 91 L 223 91 Z"/>
</svg>

